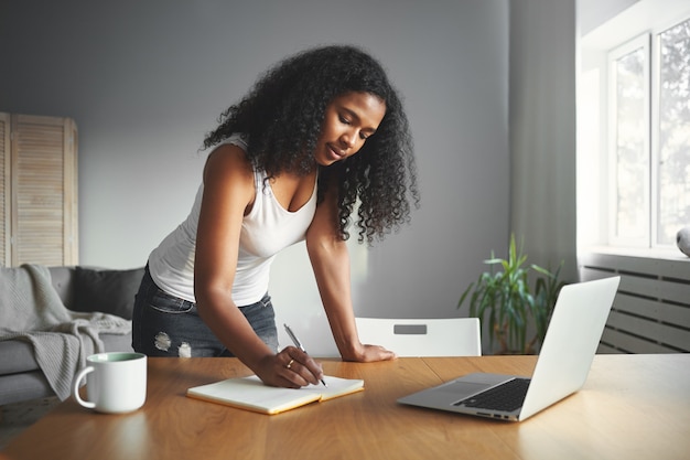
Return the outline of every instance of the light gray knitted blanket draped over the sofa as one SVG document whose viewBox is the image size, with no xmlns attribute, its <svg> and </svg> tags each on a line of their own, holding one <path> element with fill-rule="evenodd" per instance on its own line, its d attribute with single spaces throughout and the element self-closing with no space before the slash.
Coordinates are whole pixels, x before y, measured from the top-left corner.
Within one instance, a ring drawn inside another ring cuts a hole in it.
<svg viewBox="0 0 690 460">
<path fill-rule="evenodd" d="M 41 371 L 62 399 L 71 395 L 86 357 L 104 351 L 99 333 L 127 334 L 131 321 L 106 313 L 68 310 L 51 282 L 47 267 L 0 267 L 0 341 L 33 345 Z"/>
</svg>

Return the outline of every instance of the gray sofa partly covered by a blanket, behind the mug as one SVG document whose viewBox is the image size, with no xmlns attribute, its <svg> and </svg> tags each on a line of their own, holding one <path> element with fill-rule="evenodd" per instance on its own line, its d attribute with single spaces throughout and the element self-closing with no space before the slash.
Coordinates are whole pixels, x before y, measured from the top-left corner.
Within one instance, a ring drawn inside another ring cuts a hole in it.
<svg viewBox="0 0 690 460">
<path fill-rule="evenodd" d="M 47 267 L 47 271 L 68 311 L 98 311 L 131 320 L 143 267 L 119 270 L 63 266 Z M 0 304 L 0 309 L 8 307 Z M 131 327 L 127 333 L 99 333 L 98 338 L 105 351 L 132 351 Z M 32 343 L 21 338 L 0 340 L 0 406 L 50 396 L 55 393 L 36 362 Z"/>
</svg>

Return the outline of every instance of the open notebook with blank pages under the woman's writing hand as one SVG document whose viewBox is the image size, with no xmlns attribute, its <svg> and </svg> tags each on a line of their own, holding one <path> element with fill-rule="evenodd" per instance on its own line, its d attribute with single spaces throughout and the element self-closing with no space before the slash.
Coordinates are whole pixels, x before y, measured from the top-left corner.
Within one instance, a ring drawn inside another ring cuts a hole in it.
<svg viewBox="0 0 690 460">
<path fill-rule="evenodd" d="M 302 388 L 265 385 L 256 376 L 228 378 L 187 389 L 187 396 L 260 414 L 280 414 L 314 402 L 324 402 L 364 389 L 364 381 L 324 376 L 328 383 Z"/>
</svg>

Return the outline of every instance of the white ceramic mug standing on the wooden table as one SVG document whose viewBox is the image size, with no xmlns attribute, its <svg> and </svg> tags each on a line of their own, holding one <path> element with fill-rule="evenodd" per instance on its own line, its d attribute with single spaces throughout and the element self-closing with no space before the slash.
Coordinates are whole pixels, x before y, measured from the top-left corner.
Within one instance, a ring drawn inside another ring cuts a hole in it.
<svg viewBox="0 0 690 460">
<path fill-rule="evenodd" d="M 98 353 L 86 359 L 72 394 L 82 406 L 106 414 L 137 410 L 147 398 L 147 355 L 141 353 Z M 86 376 L 87 400 L 79 395 Z"/>
</svg>

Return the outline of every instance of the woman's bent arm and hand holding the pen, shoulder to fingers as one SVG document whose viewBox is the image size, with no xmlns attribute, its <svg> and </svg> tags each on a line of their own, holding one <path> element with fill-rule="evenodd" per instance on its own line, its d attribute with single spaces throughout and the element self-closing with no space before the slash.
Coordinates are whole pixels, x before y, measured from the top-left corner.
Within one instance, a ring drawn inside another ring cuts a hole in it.
<svg viewBox="0 0 690 460">
<path fill-rule="evenodd" d="M 194 295 L 198 313 L 218 340 L 265 383 L 317 384 L 321 366 L 293 346 L 274 354 L 233 301 L 241 222 L 254 200 L 254 172 L 245 152 L 235 146 L 216 149 L 204 168 L 196 234 Z M 290 360 L 299 364 L 288 370 Z"/>
</svg>

